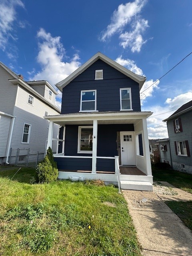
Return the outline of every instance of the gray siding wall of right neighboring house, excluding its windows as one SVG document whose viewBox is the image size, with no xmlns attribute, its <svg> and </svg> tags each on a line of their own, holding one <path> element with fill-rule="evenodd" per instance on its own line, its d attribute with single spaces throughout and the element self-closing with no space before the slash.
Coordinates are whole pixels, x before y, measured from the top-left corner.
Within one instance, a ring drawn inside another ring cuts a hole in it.
<svg viewBox="0 0 192 256">
<path fill-rule="evenodd" d="M 192 166 L 192 111 L 179 116 L 182 123 L 182 132 L 174 132 L 173 120 L 167 122 L 172 162 Z M 177 118 L 175 118 L 177 119 Z M 175 150 L 175 141 L 188 140 L 190 156 L 178 156 Z M 175 164 L 176 165 L 176 164 Z"/>
</svg>

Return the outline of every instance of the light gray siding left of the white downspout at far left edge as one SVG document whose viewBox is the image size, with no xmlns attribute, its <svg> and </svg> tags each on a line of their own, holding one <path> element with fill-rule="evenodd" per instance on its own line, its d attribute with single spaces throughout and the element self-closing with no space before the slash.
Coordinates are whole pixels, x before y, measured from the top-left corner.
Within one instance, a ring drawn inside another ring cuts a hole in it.
<svg viewBox="0 0 192 256">
<path fill-rule="evenodd" d="M 0 115 L 0 157 L 6 156 L 11 118 Z"/>
</svg>

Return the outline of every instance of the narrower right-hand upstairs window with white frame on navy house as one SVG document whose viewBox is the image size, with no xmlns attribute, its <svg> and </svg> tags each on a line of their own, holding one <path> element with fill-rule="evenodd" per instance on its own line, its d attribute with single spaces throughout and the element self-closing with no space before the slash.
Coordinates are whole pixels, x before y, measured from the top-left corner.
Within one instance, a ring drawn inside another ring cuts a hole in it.
<svg viewBox="0 0 192 256">
<path fill-rule="evenodd" d="M 132 110 L 131 88 L 120 89 L 120 110 Z"/>
</svg>

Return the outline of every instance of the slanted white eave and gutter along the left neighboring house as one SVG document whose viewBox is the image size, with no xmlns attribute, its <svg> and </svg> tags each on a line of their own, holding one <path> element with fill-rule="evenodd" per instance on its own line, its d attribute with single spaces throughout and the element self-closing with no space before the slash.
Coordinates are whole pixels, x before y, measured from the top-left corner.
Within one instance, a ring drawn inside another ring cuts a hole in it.
<svg viewBox="0 0 192 256">
<path fill-rule="evenodd" d="M 9 81 L 12 84 L 20 84 L 22 87 L 24 87 L 26 90 L 30 91 L 32 94 L 34 94 L 35 96 L 37 96 L 37 98 L 39 98 L 40 100 L 42 100 L 43 102 L 45 102 L 46 104 L 48 104 L 48 106 L 50 106 L 51 108 L 53 108 L 54 110 L 56 110 L 58 113 L 60 113 L 60 109 L 57 108 L 55 105 L 51 104 L 48 100 L 46 100 L 42 95 L 40 95 L 38 92 L 36 92 L 36 90 L 34 90 L 31 86 L 29 86 L 26 82 L 24 82 L 22 79 L 9 79 Z"/>
</svg>

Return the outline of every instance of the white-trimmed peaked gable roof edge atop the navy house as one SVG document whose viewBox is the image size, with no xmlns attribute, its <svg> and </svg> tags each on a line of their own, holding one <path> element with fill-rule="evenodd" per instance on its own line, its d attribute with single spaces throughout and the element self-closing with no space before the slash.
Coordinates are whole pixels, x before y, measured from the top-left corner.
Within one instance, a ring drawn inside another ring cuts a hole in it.
<svg viewBox="0 0 192 256">
<path fill-rule="evenodd" d="M 57 88 L 62 92 L 62 88 L 64 88 L 66 85 L 68 85 L 74 78 L 76 78 L 78 75 L 80 75 L 82 72 L 84 72 L 88 67 L 90 67 L 94 62 L 96 62 L 98 59 L 106 62 L 116 70 L 122 72 L 126 76 L 132 78 L 134 81 L 138 82 L 139 84 L 139 90 L 141 90 L 146 77 L 145 76 L 140 76 L 135 74 L 134 72 L 128 70 L 127 68 L 123 67 L 122 65 L 118 64 L 114 60 L 108 58 L 101 52 L 97 52 L 92 58 L 90 58 L 87 62 L 85 62 L 82 66 L 80 66 L 78 69 L 76 69 L 72 74 L 70 74 L 67 78 L 64 80 L 58 82 L 55 84 Z"/>
</svg>

